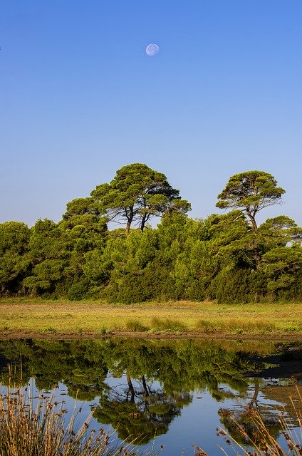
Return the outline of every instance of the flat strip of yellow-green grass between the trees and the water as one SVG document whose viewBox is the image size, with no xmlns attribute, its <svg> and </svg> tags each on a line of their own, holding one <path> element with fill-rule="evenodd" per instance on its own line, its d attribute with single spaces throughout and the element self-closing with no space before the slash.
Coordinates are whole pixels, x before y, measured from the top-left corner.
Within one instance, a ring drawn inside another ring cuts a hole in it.
<svg viewBox="0 0 302 456">
<path fill-rule="evenodd" d="M 302 304 L 217 305 L 177 301 L 132 305 L 102 301 L 1 299 L 0 337 L 108 333 L 301 336 Z"/>
</svg>

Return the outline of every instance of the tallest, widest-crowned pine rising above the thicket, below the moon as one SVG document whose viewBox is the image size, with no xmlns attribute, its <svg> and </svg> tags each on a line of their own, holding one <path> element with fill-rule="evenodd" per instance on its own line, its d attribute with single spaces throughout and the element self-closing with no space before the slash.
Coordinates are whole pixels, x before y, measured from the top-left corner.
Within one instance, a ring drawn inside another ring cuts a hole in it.
<svg viewBox="0 0 302 456">
<path fill-rule="evenodd" d="M 142 163 L 122 167 L 110 184 L 98 185 L 90 195 L 100 203 L 109 220 L 126 222 L 126 235 L 132 222 L 143 231 L 151 217 L 168 210 L 186 213 L 190 209 L 164 174 Z"/>
</svg>

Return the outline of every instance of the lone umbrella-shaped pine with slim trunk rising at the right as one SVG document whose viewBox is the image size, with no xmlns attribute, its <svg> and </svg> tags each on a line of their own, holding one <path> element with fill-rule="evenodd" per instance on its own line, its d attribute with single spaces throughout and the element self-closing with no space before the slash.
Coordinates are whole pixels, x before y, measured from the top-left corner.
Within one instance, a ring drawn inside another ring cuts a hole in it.
<svg viewBox="0 0 302 456">
<path fill-rule="evenodd" d="M 216 206 L 220 209 L 234 208 L 243 210 L 249 217 L 256 234 L 256 214 L 272 204 L 280 204 L 285 190 L 277 187 L 272 175 L 264 171 L 246 171 L 230 177 L 229 182 L 218 195 Z"/>
</svg>

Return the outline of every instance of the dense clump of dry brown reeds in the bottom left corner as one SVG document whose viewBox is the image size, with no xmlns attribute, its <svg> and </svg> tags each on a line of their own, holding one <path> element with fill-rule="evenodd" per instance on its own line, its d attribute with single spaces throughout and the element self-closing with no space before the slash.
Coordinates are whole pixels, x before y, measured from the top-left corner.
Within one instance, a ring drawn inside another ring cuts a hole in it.
<svg viewBox="0 0 302 456">
<path fill-rule="evenodd" d="M 76 415 L 65 423 L 66 411 L 52 398 L 28 398 L 26 389 L 0 392 L 0 456 L 133 456 L 126 444 L 110 445 L 103 429 L 88 432 L 91 416 L 75 430 Z"/>
</svg>

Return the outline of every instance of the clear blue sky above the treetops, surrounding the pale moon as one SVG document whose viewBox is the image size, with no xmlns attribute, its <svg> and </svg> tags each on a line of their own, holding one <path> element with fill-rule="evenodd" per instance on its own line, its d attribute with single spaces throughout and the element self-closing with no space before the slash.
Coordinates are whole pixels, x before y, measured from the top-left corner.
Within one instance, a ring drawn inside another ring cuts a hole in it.
<svg viewBox="0 0 302 456">
<path fill-rule="evenodd" d="M 301 225 L 301 24 L 301 0 L 3 1 L 0 222 L 58 221 L 142 162 L 198 218 L 270 172 L 286 194 L 263 217 Z"/>
</svg>

